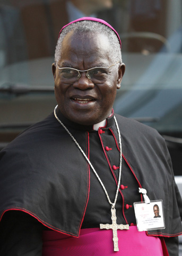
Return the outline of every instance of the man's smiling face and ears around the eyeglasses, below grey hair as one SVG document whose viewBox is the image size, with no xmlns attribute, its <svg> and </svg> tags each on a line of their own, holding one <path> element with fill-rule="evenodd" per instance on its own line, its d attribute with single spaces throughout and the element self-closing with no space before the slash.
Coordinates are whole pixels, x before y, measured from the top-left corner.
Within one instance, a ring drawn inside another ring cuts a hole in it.
<svg viewBox="0 0 182 256">
<path fill-rule="evenodd" d="M 93 67 L 109 67 L 109 41 L 105 35 L 91 34 L 82 40 L 72 31 L 66 35 L 62 45 L 59 67 L 86 70 Z M 93 83 L 81 72 L 74 83 L 60 81 L 59 69 L 53 64 L 55 96 L 61 113 L 71 121 L 83 125 L 93 125 L 111 114 L 116 91 L 125 71 L 125 66 L 110 67 L 105 83 Z"/>
</svg>

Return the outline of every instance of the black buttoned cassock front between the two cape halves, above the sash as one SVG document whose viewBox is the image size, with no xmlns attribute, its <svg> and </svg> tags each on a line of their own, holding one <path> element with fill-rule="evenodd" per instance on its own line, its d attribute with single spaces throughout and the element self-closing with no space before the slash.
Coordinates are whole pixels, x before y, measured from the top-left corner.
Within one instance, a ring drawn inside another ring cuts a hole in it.
<svg viewBox="0 0 182 256">
<path fill-rule="evenodd" d="M 116 147 L 116 142 L 114 137 L 111 134 L 110 130 L 104 129 L 105 133 L 101 134 L 103 148 L 108 146 L 112 148 L 107 152 L 108 161 L 111 166 L 119 166 L 119 150 Z M 90 142 L 90 161 L 97 170 L 97 173 L 102 180 L 103 184 L 108 191 L 111 202 L 114 202 L 116 195 L 116 181 L 114 175 L 112 175 L 111 170 L 109 169 L 108 162 L 106 161 L 105 154 L 100 143 L 98 132 L 89 133 L 89 142 Z M 98 148 L 98 146 L 100 148 Z M 97 151 L 96 151 L 97 148 Z M 113 171 L 118 179 L 119 169 Z M 134 207 L 133 203 L 141 201 L 141 196 L 138 193 L 138 184 L 134 175 L 129 170 L 126 161 L 123 159 L 122 163 L 122 179 L 121 184 L 127 188 L 125 190 L 120 190 L 116 202 L 116 214 L 117 214 L 117 223 L 131 223 L 136 224 Z M 124 200 L 123 200 L 124 198 Z M 132 206 L 129 209 L 126 209 L 126 204 Z M 124 214 L 125 217 L 124 217 Z M 90 195 L 89 202 L 86 207 L 86 212 L 82 224 L 82 228 L 94 228 L 100 227 L 100 223 L 110 223 L 111 222 L 111 205 L 108 203 L 105 192 L 103 191 L 96 175 L 93 173 L 92 169 L 90 170 Z"/>
</svg>

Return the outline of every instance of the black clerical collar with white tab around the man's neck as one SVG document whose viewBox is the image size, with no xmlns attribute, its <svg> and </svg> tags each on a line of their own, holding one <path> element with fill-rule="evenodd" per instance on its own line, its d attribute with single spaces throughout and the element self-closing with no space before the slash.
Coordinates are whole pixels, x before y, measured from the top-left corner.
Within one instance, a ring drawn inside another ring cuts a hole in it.
<svg viewBox="0 0 182 256">
<path fill-rule="evenodd" d="M 111 115 L 103 120 L 102 122 L 95 124 L 95 125 L 82 125 L 82 124 L 77 124 L 69 119 L 67 119 L 62 113 L 60 113 L 60 110 L 57 108 L 56 109 L 56 115 L 60 119 L 60 121 L 63 122 L 66 127 L 70 127 L 71 129 L 74 130 L 81 130 L 81 131 L 98 131 L 99 127 L 105 127 L 105 129 L 109 129 L 113 124 L 114 124 L 114 110 L 112 109 Z"/>
</svg>

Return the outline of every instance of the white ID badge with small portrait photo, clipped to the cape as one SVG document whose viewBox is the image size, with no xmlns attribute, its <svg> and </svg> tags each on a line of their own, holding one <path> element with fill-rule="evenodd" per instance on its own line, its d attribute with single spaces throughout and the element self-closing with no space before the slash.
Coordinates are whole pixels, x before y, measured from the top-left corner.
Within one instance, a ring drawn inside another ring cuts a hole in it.
<svg viewBox="0 0 182 256">
<path fill-rule="evenodd" d="M 134 203 L 136 225 L 138 231 L 164 229 L 164 214 L 162 200 Z"/>
</svg>

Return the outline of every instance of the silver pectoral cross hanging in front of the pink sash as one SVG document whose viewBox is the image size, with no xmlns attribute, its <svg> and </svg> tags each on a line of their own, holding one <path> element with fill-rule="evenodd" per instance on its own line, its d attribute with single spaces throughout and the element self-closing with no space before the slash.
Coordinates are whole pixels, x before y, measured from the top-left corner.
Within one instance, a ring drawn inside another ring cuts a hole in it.
<svg viewBox="0 0 182 256">
<path fill-rule="evenodd" d="M 117 236 L 117 229 L 129 229 L 129 225 L 123 225 L 120 224 L 118 225 L 116 223 L 116 209 L 115 208 L 111 208 L 111 220 L 112 220 L 112 224 L 100 224 L 100 229 L 102 228 L 106 228 L 106 229 L 112 229 L 112 233 L 113 233 L 113 242 L 114 242 L 114 251 L 118 252 L 119 248 L 118 248 L 118 236 Z"/>
</svg>

